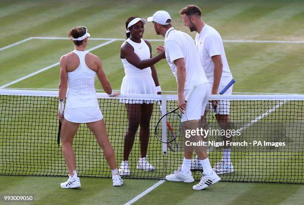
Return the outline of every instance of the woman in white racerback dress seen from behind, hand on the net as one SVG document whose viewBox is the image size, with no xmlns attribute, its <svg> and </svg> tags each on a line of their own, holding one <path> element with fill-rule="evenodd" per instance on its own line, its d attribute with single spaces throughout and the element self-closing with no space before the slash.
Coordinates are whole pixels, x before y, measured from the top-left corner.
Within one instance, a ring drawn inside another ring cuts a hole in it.
<svg viewBox="0 0 304 205">
<path fill-rule="evenodd" d="M 61 128 L 62 152 L 69 170 L 69 179 L 61 183 L 62 188 L 80 187 L 76 173 L 75 153 L 72 142 L 79 127 L 79 123 L 86 123 L 94 133 L 99 146 L 112 171 L 113 186 L 121 186 L 122 179 L 117 170 L 115 154 L 108 139 L 103 116 L 99 108 L 94 87 L 95 76 L 101 83 L 103 90 L 110 97 L 119 95 L 112 90 L 99 58 L 85 47 L 90 34 L 83 26 L 77 26 L 69 32 L 75 44 L 75 50 L 60 58 L 59 100 L 64 102 L 67 97 L 64 113 L 58 111 L 58 119 L 63 120 Z M 69 91 L 68 89 L 69 82 Z"/>
</svg>

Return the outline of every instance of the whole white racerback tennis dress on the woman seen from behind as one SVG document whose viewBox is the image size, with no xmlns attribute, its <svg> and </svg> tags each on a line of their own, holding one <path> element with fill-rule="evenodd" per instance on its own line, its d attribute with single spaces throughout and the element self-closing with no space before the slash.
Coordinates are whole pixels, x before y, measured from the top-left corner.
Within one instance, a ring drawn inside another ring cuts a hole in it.
<svg viewBox="0 0 304 205">
<path fill-rule="evenodd" d="M 88 51 L 72 51 L 79 57 L 80 64 L 73 72 L 68 72 L 69 89 L 64 117 L 70 122 L 86 123 L 101 120 L 95 90 L 95 75 L 85 64 L 84 57 Z"/>
</svg>

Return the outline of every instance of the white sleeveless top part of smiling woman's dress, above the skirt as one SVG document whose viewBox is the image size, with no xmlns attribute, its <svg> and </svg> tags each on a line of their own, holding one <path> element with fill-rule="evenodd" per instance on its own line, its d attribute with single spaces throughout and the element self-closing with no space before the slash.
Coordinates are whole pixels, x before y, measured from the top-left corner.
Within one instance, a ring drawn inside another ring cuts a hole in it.
<svg viewBox="0 0 304 205">
<path fill-rule="evenodd" d="M 150 58 L 150 48 L 147 43 L 141 39 L 141 43 L 136 43 L 130 38 L 126 40 L 133 48 L 134 52 L 138 55 L 141 60 L 146 60 Z M 149 78 L 152 76 L 151 68 L 145 68 L 143 70 L 135 67 L 127 61 L 127 59 L 121 59 L 124 69 L 125 76 L 130 78 Z"/>
</svg>

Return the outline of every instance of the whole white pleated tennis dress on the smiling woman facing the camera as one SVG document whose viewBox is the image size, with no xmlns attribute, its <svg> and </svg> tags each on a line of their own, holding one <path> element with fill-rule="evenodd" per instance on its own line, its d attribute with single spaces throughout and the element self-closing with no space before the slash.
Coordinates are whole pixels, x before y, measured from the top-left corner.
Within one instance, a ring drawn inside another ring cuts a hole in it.
<svg viewBox="0 0 304 205">
<path fill-rule="evenodd" d="M 134 52 L 141 60 L 150 58 L 150 48 L 143 39 L 141 39 L 141 43 L 136 43 L 130 38 L 126 42 L 132 45 Z M 130 64 L 125 58 L 121 59 L 121 61 L 125 70 L 125 77 L 120 89 L 121 94 L 157 94 L 150 67 L 141 70 Z M 153 101 L 121 100 L 121 103 L 153 103 Z"/>
</svg>

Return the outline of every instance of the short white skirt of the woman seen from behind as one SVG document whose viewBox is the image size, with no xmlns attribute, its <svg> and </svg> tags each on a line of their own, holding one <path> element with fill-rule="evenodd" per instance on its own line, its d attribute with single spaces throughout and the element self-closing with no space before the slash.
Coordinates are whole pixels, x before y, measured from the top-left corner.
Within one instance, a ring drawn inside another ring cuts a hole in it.
<svg viewBox="0 0 304 205">
<path fill-rule="evenodd" d="M 66 120 L 75 123 L 96 122 L 103 119 L 99 106 L 66 108 L 64 117 Z"/>
</svg>

